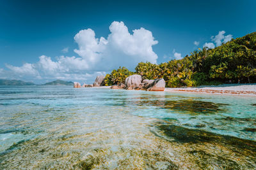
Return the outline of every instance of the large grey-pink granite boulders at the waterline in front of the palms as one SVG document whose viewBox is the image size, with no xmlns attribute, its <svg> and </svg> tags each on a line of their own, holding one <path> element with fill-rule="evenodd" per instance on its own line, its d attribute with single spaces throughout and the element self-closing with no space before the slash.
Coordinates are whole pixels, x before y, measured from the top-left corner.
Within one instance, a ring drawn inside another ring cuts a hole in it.
<svg viewBox="0 0 256 170">
<path fill-rule="evenodd" d="M 126 90 L 147 90 L 147 91 L 164 91 L 165 81 L 163 78 L 155 80 L 142 80 L 138 74 L 131 75 L 125 79 L 124 83 L 111 86 L 111 89 L 126 89 Z"/>
</svg>

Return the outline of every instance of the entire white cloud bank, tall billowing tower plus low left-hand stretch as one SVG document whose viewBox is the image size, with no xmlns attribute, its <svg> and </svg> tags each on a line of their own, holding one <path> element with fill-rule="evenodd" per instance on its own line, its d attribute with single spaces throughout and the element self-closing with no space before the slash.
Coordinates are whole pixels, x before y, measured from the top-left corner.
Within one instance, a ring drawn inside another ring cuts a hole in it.
<svg viewBox="0 0 256 170">
<path fill-rule="evenodd" d="M 8 74 L 12 78 L 28 78 L 40 81 L 46 80 L 83 80 L 92 83 L 97 75 L 106 74 L 119 66 L 134 69 L 138 62 L 156 63 L 157 55 L 152 46 L 154 40 L 152 32 L 147 29 L 134 29 L 129 33 L 124 22 L 113 22 L 109 26 L 110 34 L 107 38 L 96 38 L 92 29 L 84 29 L 74 36 L 78 48 L 74 50 L 79 57 L 60 56 L 52 60 L 42 55 L 38 62 L 25 63 L 20 67 L 6 64 L 9 70 L 0 69 L 0 78 Z M 61 50 L 68 52 L 68 47 Z"/>
</svg>

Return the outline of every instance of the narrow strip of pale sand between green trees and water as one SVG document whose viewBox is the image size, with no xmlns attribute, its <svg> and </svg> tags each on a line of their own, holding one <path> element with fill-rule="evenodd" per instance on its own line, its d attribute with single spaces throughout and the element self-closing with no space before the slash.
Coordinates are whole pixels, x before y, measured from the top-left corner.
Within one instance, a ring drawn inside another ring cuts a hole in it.
<svg viewBox="0 0 256 170">
<path fill-rule="evenodd" d="M 217 86 L 165 88 L 164 91 L 256 96 L 256 84 L 223 84 Z"/>
</svg>

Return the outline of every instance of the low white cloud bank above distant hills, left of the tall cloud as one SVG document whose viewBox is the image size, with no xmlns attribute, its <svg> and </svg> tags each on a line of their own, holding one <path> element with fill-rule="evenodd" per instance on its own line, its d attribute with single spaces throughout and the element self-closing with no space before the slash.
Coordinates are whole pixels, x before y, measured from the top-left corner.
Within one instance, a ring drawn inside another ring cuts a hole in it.
<svg viewBox="0 0 256 170">
<path fill-rule="evenodd" d="M 25 63 L 20 67 L 6 64 L 10 70 L 0 69 L 0 78 L 19 79 L 44 83 L 50 80 L 86 81 L 92 83 L 96 76 L 105 75 L 104 71 L 85 71 L 86 62 L 81 57 L 51 57 L 42 55 L 35 64 Z"/>
</svg>

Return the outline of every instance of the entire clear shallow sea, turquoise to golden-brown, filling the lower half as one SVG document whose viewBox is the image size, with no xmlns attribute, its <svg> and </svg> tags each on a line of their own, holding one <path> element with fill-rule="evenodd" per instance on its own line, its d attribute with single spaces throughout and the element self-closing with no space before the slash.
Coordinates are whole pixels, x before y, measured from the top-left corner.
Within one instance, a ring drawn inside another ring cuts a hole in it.
<svg viewBox="0 0 256 170">
<path fill-rule="evenodd" d="M 0 94 L 1 169 L 256 166 L 253 97 L 65 86 Z"/>
</svg>

